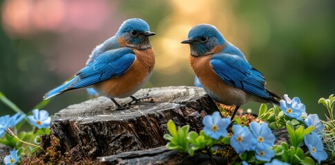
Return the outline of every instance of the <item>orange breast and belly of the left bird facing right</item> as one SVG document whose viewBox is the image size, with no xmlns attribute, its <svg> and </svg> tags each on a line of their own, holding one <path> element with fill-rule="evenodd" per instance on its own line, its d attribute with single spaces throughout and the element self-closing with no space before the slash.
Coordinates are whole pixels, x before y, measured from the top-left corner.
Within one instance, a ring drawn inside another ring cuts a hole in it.
<svg viewBox="0 0 335 165">
<path fill-rule="evenodd" d="M 155 65 L 155 52 L 152 48 L 135 50 L 135 61 L 126 73 L 117 78 L 111 78 L 97 83 L 95 88 L 106 96 L 124 98 L 133 95 L 141 89 L 149 79 Z"/>
</svg>

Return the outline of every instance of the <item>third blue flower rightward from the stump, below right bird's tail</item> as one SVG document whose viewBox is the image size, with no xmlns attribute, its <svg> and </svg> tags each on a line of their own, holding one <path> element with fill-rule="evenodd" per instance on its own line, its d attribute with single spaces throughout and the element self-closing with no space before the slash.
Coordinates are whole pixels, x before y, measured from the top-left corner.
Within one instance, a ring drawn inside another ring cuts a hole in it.
<svg viewBox="0 0 335 165">
<path fill-rule="evenodd" d="M 250 129 L 253 137 L 257 140 L 256 148 L 268 149 L 274 146 L 276 137 L 274 137 L 267 123 L 259 124 L 258 122 L 251 122 Z"/>
</svg>

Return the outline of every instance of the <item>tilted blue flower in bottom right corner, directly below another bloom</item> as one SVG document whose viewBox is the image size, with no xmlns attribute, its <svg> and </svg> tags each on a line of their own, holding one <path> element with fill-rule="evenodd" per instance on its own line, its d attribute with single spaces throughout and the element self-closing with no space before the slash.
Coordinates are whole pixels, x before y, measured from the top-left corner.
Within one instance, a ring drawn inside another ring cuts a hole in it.
<svg viewBox="0 0 335 165">
<path fill-rule="evenodd" d="M 314 159 L 318 160 L 318 163 L 327 159 L 327 153 L 323 150 L 323 143 L 316 133 L 312 132 L 309 135 L 305 135 L 304 141 L 309 153 Z"/>
</svg>

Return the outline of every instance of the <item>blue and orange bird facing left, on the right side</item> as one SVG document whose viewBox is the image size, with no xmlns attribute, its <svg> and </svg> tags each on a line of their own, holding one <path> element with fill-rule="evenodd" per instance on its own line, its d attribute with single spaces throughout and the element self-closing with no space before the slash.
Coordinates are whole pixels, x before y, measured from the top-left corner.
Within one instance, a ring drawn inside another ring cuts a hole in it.
<svg viewBox="0 0 335 165">
<path fill-rule="evenodd" d="M 249 101 L 279 104 L 280 96 L 265 88 L 265 78 L 253 68 L 242 52 L 224 39 L 216 27 L 195 25 L 189 31 L 189 63 L 204 91 L 218 102 L 236 106 Z"/>
</svg>

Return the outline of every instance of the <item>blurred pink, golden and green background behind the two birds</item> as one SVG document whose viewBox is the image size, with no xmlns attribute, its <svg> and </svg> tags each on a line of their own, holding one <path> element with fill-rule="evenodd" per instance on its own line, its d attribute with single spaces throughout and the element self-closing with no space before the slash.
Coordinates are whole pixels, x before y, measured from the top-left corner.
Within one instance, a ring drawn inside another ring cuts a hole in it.
<svg viewBox="0 0 335 165">
<path fill-rule="evenodd" d="M 325 113 L 317 101 L 335 93 L 335 1 L 0 0 L 0 5 L 0 91 L 23 111 L 84 67 L 93 48 L 133 17 L 157 33 L 151 37 L 155 70 L 145 87 L 193 85 L 189 46 L 180 41 L 193 25 L 210 23 L 265 75 L 268 89 L 298 96 L 307 113 Z M 87 99 L 79 89 L 53 98 L 45 109 L 55 113 Z M 13 113 L 0 104 L 0 115 Z"/>
</svg>

